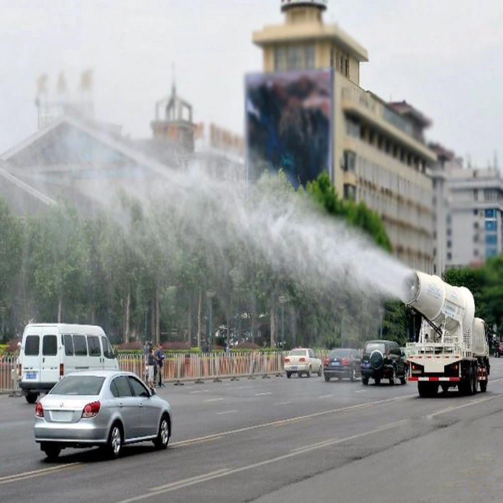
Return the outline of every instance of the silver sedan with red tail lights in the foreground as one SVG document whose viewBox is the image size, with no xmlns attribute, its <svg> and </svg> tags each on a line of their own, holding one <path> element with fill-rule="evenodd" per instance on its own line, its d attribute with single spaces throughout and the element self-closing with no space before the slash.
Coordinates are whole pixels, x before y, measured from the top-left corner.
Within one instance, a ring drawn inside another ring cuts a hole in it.
<svg viewBox="0 0 503 503">
<path fill-rule="evenodd" d="M 170 404 L 131 372 L 68 374 L 35 406 L 35 442 L 48 458 L 91 446 L 115 458 L 124 444 L 143 441 L 165 449 L 172 427 Z"/>
</svg>

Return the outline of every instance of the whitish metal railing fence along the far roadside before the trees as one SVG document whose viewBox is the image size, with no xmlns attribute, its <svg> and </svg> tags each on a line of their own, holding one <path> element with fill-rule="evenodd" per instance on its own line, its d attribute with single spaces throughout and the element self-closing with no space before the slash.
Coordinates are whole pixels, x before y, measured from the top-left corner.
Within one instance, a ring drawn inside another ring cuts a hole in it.
<svg viewBox="0 0 503 503">
<path fill-rule="evenodd" d="M 328 353 L 327 350 L 316 352 L 318 358 Z M 283 373 L 285 352 L 232 352 L 230 355 L 219 353 L 166 354 L 162 367 L 163 381 L 203 380 L 220 377 L 239 377 L 254 374 L 268 375 Z M 141 378 L 145 376 L 143 355 L 119 353 L 121 370 L 134 372 Z M 0 392 L 18 391 L 16 357 L 4 356 L 0 359 Z"/>
</svg>

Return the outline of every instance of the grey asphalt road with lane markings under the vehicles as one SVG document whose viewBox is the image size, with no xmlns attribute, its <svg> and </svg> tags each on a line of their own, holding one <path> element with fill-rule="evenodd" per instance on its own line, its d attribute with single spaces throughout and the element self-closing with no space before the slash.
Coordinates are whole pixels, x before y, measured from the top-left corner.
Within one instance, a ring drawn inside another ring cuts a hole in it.
<svg viewBox="0 0 503 503">
<path fill-rule="evenodd" d="M 47 462 L 34 406 L 0 396 L 0 501 L 501 501 L 503 360 L 491 364 L 471 397 L 318 377 L 167 384 L 170 447 L 115 461 Z"/>
</svg>

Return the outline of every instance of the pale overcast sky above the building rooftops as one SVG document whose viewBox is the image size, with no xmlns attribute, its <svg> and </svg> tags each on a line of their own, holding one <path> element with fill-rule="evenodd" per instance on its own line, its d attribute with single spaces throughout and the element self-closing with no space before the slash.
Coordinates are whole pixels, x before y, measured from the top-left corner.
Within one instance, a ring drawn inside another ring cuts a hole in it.
<svg viewBox="0 0 503 503">
<path fill-rule="evenodd" d="M 501 0 L 328 0 L 369 52 L 363 88 L 405 99 L 434 126 L 428 138 L 478 165 L 503 165 Z M 243 75 L 261 70 L 251 32 L 283 22 L 280 0 L 0 0 L 0 152 L 36 131 L 37 77 L 55 91 L 64 70 L 76 94 L 94 70 L 98 118 L 148 137 L 172 63 L 194 120 L 242 133 Z"/>
</svg>

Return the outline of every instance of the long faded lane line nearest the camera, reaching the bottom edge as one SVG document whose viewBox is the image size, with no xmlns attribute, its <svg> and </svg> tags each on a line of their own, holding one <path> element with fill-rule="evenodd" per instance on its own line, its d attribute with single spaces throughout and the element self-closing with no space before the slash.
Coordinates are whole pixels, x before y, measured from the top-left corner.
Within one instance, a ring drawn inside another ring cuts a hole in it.
<svg viewBox="0 0 503 503">
<path fill-rule="evenodd" d="M 203 475 L 198 475 L 198 476 L 191 477 L 188 479 L 182 479 L 178 482 L 171 482 L 170 484 L 152 487 L 151 489 L 149 489 L 149 493 L 147 493 L 147 494 L 141 494 L 140 496 L 135 496 L 135 497 L 132 497 L 129 499 L 123 499 L 122 501 L 119 501 L 118 503 L 132 503 L 133 501 L 139 501 L 141 499 L 147 499 L 152 496 L 158 496 L 159 494 L 171 492 L 176 489 L 183 489 L 184 487 L 189 487 L 191 485 L 200 484 L 202 482 L 207 482 L 209 480 L 214 480 L 217 478 L 226 477 L 228 475 L 233 475 L 234 473 L 239 473 L 242 471 L 251 470 L 253 468 L 258 468 L 260 466 L 265 466 L 265 465 L 269 465 L 272 463 L 277 463 L 279 461 L 283 461 L 285 459 L 289 459 L 289 458 L 298 456 L 299 452 L 305 453 L 305 452 L 309 452 L 309 451 L 314 451 L 316 449 L 321 449 L 321 448 L 325 447 L 326 445 L 340 444 L 342 442 L 347 442 L 348 440 L 354 440 L 356 438 L 373 435 L 375 433 L 382 432 L 383 430 L 388 430 L 390 428 L 394 428 L 395 426 L 399 425 L 400 423 L 404 423 L 405 421 L 407 421 L 407 420 L 402 420 L 402 421 L 398 421 L 395 423 L 390 423 L 388 425 L 382 425 L 382 426 L 376 428 L 375 430 L 372 430 L 369 432 L 364 432 L 364 433 L 359 433 L 356 435 L 351 435 L 350 437 L 346 437 L 346 438 L 342 438 L 342 439 L 332 439 L 332 440 L 328 441 L 328 443 L 322 442 L 321 444 L 318 444 L 318 445 L 305 446 L 303 448 L 300 448 L 302 450 L 295 450 L 295 451 L 289 452 L 288 454 L 283 454 L 282 456 L 277 456 L 272 459 L 266 459 L 264 461 L 259 461 L 257 463 L 253 463 L 253 464 L 250 464 L 247 466 L 241 466 L 239 468 L 232 468 L 232 469 L 231 468 L 222 468 L 221 470 L 217 470 L 214 472 L 205 473 Z"/>
</svg>

